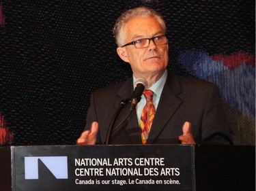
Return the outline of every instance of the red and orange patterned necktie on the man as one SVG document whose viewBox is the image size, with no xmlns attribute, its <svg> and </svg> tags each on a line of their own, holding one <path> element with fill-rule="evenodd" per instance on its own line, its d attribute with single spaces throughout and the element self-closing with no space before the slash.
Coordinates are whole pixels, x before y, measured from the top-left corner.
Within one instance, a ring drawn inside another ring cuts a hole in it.
<svg viewBox="0 0 256 191">
<path fill-rule="evenodd" d="M 150 134 L 150 128 L 152 126 L 152 122 L 154 120 L 154 116 L 156 113 L 156 109 L 153 104 L 153 94 L 152 90 L 144 90 L 143 94 L 146 99 L 146 104 L 143 107 L 141 112 L 141 140 L 142 143 L 147 143 L 147 137 Z"/>
</svg>

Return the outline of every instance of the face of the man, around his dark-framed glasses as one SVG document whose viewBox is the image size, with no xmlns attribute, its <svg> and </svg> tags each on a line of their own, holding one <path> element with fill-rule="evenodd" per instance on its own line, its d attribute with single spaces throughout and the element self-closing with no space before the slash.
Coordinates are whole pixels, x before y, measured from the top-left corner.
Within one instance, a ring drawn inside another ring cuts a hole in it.
<svg viewBox="0 0 256 191">
<path fill-rule="evenodd" d="M 124 44 L 137 39 L 152 38 L 159 35 L 165 35 L 158 21 L 153 17 L 132 18 L 124 26 L 126 35 Z M 134 45 L 125 46 L 125 57 L 119 56 L 126 62 L 130 63 L 134 76 L 152 77 L 162 75 L 168 65 L 168 44 L 156 46 L 154 41 L 150 41 L 147 48 L 137 49 Z M 118 48 L 117 48 L 118 52 Z"/>
</svg>

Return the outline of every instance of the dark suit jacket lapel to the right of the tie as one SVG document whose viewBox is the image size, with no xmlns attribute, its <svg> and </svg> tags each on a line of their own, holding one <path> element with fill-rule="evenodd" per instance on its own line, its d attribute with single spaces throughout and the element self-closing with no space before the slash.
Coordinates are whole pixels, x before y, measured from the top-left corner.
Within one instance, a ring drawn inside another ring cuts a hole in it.
<svg viewBox="0 0 256 191">
<path fill-rule="evenodd" d="M 182 90 L 177 76 L 168 73 L 167 82 L 162 90 L 158 108 L 156 110 L 156 116 L 147 140 L 148 144 L 153 143 L 154 140 L 157 139 L 162 129 L 165 128 L 167 122 L 171 120 L 175 111 L 177 111 L 182 104 L 182 99 L 177 97 L 177 94 L 180 94 L 181 92 Z"/>
</svg>

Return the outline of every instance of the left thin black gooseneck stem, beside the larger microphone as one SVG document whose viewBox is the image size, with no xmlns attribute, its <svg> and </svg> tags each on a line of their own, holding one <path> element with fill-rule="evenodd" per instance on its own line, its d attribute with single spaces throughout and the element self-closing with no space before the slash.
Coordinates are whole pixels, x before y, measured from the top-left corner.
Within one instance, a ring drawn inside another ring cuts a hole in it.
<svg viewBox="0 0 256 191">
<path fill-rule="evenodd" d="M 111 123 L 109 124 L 109 129 L 108 129 L 108 132 L 106 133 L 106 140 L 102 143 L 102 145 L 109 145 L 109 141 L 110 141 L 110 138 L 111 138 L 111 133 L 112 133 L 112 130 L 113 130 L 113 126 L 115 124 L 115 120 L 117 119 L 117 116 L 119 115 L 120 111 L 126 107 L 127 103 L 128 103 L 129 99 L 122 99 L 115 111 L 115 114 L 111 120 Z"/>
</svg>

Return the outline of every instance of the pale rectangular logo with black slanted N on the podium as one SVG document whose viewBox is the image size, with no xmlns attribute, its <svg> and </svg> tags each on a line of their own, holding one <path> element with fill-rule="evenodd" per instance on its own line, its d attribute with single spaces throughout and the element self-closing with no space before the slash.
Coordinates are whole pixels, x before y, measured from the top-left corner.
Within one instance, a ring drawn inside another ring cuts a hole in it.
<svg viewBox="0 0 256 191">
<path fill-rule="evenodd" d="M 68 179 L 67 156 L 28 156 L 25 157 L 25 179 L 38 179 L 38 160 L 47 167 L 56 179 Z"/>
</svg>

